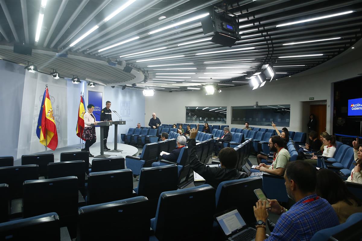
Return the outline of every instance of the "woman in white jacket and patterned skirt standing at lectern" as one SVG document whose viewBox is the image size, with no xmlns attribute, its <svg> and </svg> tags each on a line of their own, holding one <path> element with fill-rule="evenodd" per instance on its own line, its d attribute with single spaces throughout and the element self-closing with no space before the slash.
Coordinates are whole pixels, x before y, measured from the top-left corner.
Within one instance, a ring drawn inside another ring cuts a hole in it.
<svg viewBox="0 0 362 241">
<path fill-rule="evenodd" d="M 85 148 L 82 149 L 81 151 L 88 151 L 89 152 L 89 147 L 92 146 L 95 142 L 96 142 L 96 128 L 94 127 L 95 125 L 98 124 L 98 122 L 96 121 L 96 117 L 94 117 L 93 115 L 93 111 L 94 111 L 94 105 L 93 104 L 89 104 L 87 106 L 88 111 L 84 113 L 84 131 L 83 131 L 83 139 L 85 139 Z M 92 154 L 90 154 L 89 152 L 89 157 L 93 157 Z"/>
</svg>

